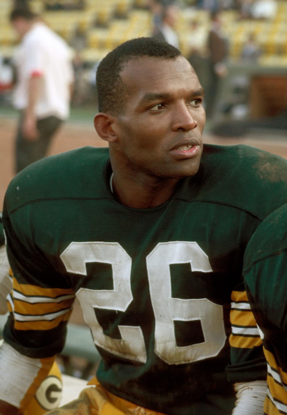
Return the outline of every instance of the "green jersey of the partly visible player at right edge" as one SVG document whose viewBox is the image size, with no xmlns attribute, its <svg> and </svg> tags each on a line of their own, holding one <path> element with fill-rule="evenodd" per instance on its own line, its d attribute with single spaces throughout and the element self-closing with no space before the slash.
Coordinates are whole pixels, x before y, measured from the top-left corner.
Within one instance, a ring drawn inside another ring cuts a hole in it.
<svg viewBox="0 0 287 415">
<path fill-rule="evenodd" d="M 244 280 L 268 363 L 264 413 L 287 414 L 287 205 L 258 227 L 244 256 Z"/>
</svg>

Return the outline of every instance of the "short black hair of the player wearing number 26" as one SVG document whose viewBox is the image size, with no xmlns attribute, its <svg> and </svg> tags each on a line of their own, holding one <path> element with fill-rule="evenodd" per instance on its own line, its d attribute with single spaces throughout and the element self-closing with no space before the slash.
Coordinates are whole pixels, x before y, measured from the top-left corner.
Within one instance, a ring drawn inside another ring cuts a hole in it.
<svg viewBox="0 0 287 415">
<path fill-rule="evenodd" d="M 151 56 L 161 59 L 176 59 L 181 52 L 165 41 L 152 37 L 128 40 L 112 50 L 97 68 L 96 84 L 100 112 L 122 114 L 126 88 L 120 73 L 131 59 Z"/>
</svg>

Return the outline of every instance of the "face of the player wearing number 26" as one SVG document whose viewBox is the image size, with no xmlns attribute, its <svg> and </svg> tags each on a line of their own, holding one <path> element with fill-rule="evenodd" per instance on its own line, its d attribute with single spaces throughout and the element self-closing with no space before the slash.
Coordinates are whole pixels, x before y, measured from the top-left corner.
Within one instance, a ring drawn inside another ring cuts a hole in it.
<svg viewBox="0 0 287 415">
<path fill-rule="evenodd" d="M 183 178 L 197 173 L 202 154 L 203 90 L 188 61 L 144 57 L 124 67 L 123 115 L 112 127 L 121 168 L 132 175 Z"/>
</svg>

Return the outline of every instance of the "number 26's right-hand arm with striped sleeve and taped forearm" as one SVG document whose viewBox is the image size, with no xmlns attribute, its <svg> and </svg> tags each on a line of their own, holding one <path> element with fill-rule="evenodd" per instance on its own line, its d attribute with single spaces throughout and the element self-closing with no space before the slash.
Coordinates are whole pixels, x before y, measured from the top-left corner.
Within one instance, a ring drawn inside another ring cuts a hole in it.
<svg viewBox="0 0 287 415">
<path fill-rule="evenodd" d="M 262 415 L 267 366 L 262 340 L 243 283 L 231 295 L 229 381 L 236 391 L 233 415 Z"/>
</svg>

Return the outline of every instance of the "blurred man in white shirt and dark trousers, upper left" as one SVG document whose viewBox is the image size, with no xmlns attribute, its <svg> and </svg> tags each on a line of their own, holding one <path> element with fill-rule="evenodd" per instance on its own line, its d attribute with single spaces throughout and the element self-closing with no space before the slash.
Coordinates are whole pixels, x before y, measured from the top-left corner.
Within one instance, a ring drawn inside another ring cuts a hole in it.
<svg viewBox="0 0 287 415">
<path fill-rule="evenodd" d="M 27 6 L 10 21 L 21 44 L 15 56 L 14 105 L 21 111 L 16 139 L 16 173 L 46 156 L 51 138 L 69 115 L 73 68 L 66 42 Z"/>
</svg>

